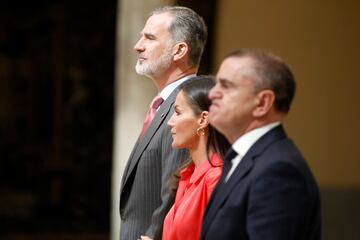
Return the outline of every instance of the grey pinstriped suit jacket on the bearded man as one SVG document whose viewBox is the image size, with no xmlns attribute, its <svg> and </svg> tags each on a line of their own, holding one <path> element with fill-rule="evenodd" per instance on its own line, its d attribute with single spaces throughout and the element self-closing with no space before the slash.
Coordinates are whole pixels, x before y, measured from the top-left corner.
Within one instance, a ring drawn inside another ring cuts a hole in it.
<svg viewBox="0 0 360 240">
<path fill-rule="evenodd" d="M 120 189 L 121 240 L 140 235 L 161 239 L 164 218 L 174 202 L 168 177 L 188 158 L 186 150 L 172 149 L 167 126 L 176 94 L 177 90 L 160 106 L 127 162 Z"/>
</svg>

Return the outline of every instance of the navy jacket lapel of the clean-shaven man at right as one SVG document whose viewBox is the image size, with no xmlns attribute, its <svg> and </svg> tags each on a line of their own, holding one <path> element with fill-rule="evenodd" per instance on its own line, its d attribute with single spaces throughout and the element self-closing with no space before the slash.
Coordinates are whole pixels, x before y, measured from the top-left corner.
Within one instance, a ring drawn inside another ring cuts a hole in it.
<svg viewBox="0 0 360 240">
<path fill-rule="evenodd" d="M 203 223 L 204 232 L 206 232 L 207 227 L 210 226 L 211 221 L 214 219 L 217 213 L 217 210 L 227 200 L 234 187 L 237 186 L 237 183 L 241 181 L 247 175 L 247 173 L 249 173 L 255 164 L 255 158 L 261 155 L 270 144 L 283 138 L 286 138 L 286 134 L 282 125 L 275 127 L 274 129 L 267 132 L 257 142 L 255 142 L 255 144 L 245 154 L 229 180 L 226 183 L 219 182 L 207 207 Z"/>
</svg>

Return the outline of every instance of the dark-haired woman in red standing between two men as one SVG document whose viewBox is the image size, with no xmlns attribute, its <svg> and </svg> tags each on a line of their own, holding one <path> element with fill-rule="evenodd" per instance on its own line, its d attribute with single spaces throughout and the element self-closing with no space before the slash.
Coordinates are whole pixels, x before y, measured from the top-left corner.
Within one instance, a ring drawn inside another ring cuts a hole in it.
<svg viewBox="0 0 360 240">
<path fill-rule="evenodd" d="M 209 125 L 208 93 L 214 85 L 213 77 L 198 76 L 183 84 L 176 97 L 168 122 L 172 147 L 187 148 L 190 161 L 173 183 L 176 198 L 164 221 L 164 240 L 199 239 L 206 204 L 221 175 L 221 159 L 230 145 Z"/>
</svg>

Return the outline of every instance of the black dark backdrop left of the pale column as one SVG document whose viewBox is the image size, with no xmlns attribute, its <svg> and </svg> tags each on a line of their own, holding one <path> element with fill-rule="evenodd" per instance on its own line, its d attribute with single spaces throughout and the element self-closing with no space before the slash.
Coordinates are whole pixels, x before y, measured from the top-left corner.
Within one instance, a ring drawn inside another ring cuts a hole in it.
<svg viewBox="0 0 360 240">
<path fill-rule="evenodd" d="M 115 0 L 1 2 L 0 238 L 108 234 L 115 14 Z"/>
</svg>

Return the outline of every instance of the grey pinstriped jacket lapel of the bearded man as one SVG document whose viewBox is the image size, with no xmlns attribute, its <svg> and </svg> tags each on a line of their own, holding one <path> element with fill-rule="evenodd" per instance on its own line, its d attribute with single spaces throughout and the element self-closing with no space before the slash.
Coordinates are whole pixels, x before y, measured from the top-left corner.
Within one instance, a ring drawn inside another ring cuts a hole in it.
<svg viewBox="0 0 360 240">
<path fill-rule="evenodd" d="M 171 107 L 175 101 L 177 90 L 174 90 L 170 96 L 161 104 L 160 109 L 156 113 L 153 121 L 151 122 L 148 130 L 146 131 L 145 135 L 143 136 L 143 139 L 138 139 L 136 143 L 136 149 L 131 154 L 131 157 L 129 158 L 129 165 L 126 171 L 126 177 L 125 181 L 123 181 L 123 186 L 125 185 L 126 181 L 128 180 L 131 172 L 133 171 L 134 167 L 138 163 L 141 154 L 144 152 L 145 148 L 149 145 L 150 140 L 155 135 L 156 131 L 159 129 L 161 124 L 166 119 L 166 116 L 169 114 Z"/>
</svg>

